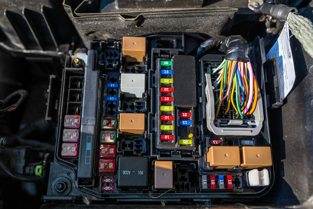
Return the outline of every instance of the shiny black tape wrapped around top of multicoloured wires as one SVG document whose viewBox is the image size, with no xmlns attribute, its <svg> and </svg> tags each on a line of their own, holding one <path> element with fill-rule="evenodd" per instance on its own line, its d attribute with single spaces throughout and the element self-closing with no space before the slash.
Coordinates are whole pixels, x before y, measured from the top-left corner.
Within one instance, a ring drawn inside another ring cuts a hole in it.
<svg viewBox="0 0 313 209">
<path fill-rule="evenodd" d="M 228 36 L 225 39 L 226 60 L 250 62 L 248 57 L 248 43 L 242 36 Z"/>
</svg>

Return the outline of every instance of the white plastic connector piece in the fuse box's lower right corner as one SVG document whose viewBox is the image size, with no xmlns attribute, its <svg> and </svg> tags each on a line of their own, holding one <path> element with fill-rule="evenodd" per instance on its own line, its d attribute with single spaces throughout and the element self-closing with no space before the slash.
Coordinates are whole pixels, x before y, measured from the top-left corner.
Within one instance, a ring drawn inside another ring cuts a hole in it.
<svg viewBox="0 0 313 209">
<path fill-rule="evenodd" d="M 269 171 L 263 169 L 253 169 L 247 172 L 248 186 L 268 186 L 269 185 Z"/>
</svg>

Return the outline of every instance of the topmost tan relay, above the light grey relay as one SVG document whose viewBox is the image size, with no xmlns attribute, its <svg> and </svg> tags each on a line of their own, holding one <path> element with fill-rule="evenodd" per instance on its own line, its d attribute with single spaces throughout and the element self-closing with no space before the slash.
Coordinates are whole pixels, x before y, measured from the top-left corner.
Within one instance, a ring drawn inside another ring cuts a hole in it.
<svg viewBox="0 0 313 209">
<path fill-rule="evenodd" d="M 146 56 L 146 37 L 123 37 L 122 53 L 126 62 L 142 62 Z"/>
</svg>

